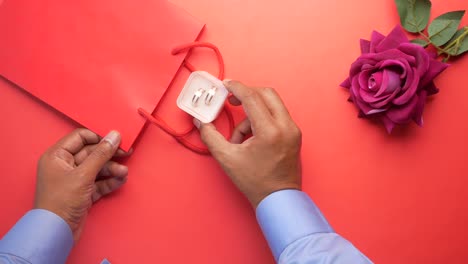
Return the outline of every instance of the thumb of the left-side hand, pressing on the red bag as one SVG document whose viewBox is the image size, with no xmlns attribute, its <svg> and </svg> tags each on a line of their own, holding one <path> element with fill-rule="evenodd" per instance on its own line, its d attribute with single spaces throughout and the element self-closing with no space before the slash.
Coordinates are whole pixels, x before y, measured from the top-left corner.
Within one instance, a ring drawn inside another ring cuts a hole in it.
<svg viewBox="0 0 468 264">
<path fill-rule="evenodd" d="M 119 132 L 111 131 L 79 165 L 79 168 L 85 170 L 85 175 L 89 175 L 90 180 L 94 181 L 99 171 L 117 152 L 119 144 Z"/>
</svg>

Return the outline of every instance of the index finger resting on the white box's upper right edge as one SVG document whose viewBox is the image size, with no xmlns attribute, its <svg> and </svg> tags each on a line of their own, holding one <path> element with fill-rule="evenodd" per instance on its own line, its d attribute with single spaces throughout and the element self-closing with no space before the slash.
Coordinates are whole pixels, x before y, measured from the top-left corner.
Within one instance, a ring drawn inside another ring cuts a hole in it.
<svg viewBox="0 0 468 264">
<path fill-rule="evenodd" d="M 272 123 L 272 115 L 255 89 L 231 80 L 224 81 L 224 86 L 242 102 L 245 114 L 254 128 L 262 129 Z"/>
</svg>

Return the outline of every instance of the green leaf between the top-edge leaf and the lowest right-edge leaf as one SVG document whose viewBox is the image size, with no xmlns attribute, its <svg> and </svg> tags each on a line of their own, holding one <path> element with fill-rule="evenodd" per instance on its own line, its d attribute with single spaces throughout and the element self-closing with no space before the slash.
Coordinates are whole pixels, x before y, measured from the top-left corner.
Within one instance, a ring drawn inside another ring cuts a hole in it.
<svg viewBox="0 0 468 264">
<path fill-rule="evenodd" d="M 435 46 L 447 43 L 457 32 L 460 21 L 465 11 L 453 11 L 438 16 L 429 25 L 429 38 Z"/>
</svg>

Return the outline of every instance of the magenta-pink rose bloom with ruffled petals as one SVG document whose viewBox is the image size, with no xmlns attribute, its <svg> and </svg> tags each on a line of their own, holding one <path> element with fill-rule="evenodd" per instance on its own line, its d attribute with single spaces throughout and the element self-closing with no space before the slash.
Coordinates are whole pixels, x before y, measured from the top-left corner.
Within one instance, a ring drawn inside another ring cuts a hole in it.
<svg viewBox="0 0 468 264">
<path fill-rule="evenodd" d="M 448 64 L 410 43 L 400 26 L 387 37 L 374 31 L 371 41 L 361 39 L 361 53 L 341 84 L 359 116 L 380 119 L 389 133 L 411 120 L 422 126 L 426 97 L 439 91 L 433 80 Z"/>
</svg>

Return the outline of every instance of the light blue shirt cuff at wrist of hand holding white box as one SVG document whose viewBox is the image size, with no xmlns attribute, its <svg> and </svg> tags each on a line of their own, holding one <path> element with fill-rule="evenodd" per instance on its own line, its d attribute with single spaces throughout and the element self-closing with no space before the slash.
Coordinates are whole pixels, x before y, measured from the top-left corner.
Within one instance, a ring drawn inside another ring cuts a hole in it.
<svg viewBox="0 0 468 264">
<path fill-rule="evenodd" d="M 256 213 L 276 261 L 294 241 L 314 233 L 334 232 L 309 196 L 298 190 L 268 195 L 260 202 Z"/>
</svg>

